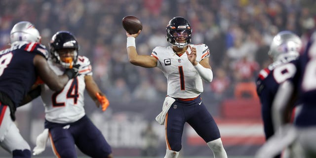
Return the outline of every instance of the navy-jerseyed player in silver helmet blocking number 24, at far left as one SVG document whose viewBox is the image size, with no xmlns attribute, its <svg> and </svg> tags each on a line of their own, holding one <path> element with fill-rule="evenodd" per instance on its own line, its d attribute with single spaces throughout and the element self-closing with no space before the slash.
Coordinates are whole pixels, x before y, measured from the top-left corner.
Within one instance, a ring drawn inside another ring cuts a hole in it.
<svg viewBox="0 0 316 158">
<path fill-rule="evenodd" d="M 0 145 L 13 158 L 31 158 L 30 146 L 13 122 L 16 108 L 38 77 L 50 89 L 59 91 L 78 70 L 67 69 L 57 76 L 46 61 L 48 52 L 40 44 L 39 31 L 28 21 L 13 26 L 10 43 L 10 48 L 0 51 Z M 37 94 L 30 91 L 29 95 Z"/>
</svg>

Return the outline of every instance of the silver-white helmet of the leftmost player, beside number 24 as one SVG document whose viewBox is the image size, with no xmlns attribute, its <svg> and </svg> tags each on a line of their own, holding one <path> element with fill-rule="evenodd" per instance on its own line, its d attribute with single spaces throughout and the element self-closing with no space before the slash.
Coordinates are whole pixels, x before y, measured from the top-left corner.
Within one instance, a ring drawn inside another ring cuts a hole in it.
<svg viewBox="0 0 316 158">
<path fill-rule="evenodd" d="M 39 31 L 28 21 L 16 23 L 10 33 L 11 43 L 15 41 L 40 42 L 40 39 Z"/>
</svg>

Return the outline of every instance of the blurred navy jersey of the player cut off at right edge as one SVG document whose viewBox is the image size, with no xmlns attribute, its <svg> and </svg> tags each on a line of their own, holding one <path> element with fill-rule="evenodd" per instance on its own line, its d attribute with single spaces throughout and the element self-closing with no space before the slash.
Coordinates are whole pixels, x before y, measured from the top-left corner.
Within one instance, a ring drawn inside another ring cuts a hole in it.
<svg viewBox="0 0 316 158">
<path fill-rule="evenodd" d="M 316 42 L 309 43 L 307 50 L 299 57 L 296 64 L 297 73 L 292 79 L 298 90 L 298 98 L 302 103 L 302 110 L 297 115 L 297 126 L 316 125 Z"/>
</svg>

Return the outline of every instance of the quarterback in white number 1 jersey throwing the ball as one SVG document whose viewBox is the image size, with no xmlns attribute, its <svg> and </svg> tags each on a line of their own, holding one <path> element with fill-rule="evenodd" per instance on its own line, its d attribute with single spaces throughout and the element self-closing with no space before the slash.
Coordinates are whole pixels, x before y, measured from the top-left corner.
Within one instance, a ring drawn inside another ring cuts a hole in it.
<svg viewBox="0 0 316 158">
<path fill-rule="evenodd" d="M 164 158 L 178 157 L 185 122 L 203 138 L 215 158 L 227 158 L 218 126 L 200 97 L 202 79 L 207 82 L 213 79 L 208 46 L 190 44 L 192 29 L 183 17 L 172 18 L 166 27 L 171 46 L 157 46 L 151 55 L 138 55 L 136 51 L 135 38 L 140 32 L 133 35 L 126 32 L 130 63 L 145 68 L 158 67 L 167 78 L 167 97 L 157 117 L 158 122 L 165 125 Z"/>
</svg>

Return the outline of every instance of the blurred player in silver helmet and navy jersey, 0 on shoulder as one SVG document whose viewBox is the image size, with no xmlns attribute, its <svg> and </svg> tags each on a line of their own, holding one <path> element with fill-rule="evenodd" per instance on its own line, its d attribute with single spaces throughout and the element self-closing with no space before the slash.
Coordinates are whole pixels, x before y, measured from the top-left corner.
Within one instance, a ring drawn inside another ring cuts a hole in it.
<svg viewBox="0 0 316 158">
<path fill-rule="evenodd" d="M 257 79 L 257 93 L 261 102 L 261 115 L 264 124 L 266 140 L 274 135 L 272 121 L 272 103 L 276 96 L 279 84 L 292 77 L 295 73 L 293 63 L 302 48 L 301 39 L 290 31 L 281 31 L 273 39 L 268 55 L 273 63 L 259 73 Z M 290 115 L 286 116 L 289 121 Z M 278 156 L 280 157 L 280 156 Z"/>
</svg>

